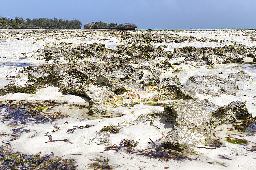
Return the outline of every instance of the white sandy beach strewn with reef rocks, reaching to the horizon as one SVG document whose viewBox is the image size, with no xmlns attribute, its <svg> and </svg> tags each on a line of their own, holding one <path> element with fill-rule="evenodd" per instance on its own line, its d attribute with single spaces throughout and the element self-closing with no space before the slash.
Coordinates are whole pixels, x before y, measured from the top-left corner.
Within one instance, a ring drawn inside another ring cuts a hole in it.
<svg viewBox="0 0 256 170">
<path fill-rule="evenodd" d="M 255 30 L 0 30 L 0 141 L 76 169 L 256 169 L 255 46 Z"/>
</svg>

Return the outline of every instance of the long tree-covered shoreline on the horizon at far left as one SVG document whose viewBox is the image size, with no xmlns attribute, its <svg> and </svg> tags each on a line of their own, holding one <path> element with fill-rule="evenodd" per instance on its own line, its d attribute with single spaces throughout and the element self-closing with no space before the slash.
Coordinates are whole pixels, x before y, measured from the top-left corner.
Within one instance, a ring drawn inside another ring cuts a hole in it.
<svg viewBox="0 0 256 170">
<path fill-rule="evenodd" d="M 81 29 L 82 23 L 73 19 L 63 20 L 63 19 L 53 19 L 48 18 L 27 18 L 26 21 L 23 17 L 15 17 L 14 19 L 9 19 L 0 16 L 0 29 L 14 28 L 14 29 Z"/>
</svg>

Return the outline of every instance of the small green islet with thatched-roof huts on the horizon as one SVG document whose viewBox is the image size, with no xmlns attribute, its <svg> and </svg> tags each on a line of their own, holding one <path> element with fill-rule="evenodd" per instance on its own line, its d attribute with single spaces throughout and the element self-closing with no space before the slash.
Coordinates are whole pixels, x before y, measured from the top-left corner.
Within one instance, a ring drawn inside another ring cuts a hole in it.
<svg viewBox="0 0 256 170">
<path fill-rule="evenodd" d="M 110 23 L 106 24 L 105 22 L 93 22 L 84 25 L 84 29 L 116 29 L 116 30 L 135 30 L 137 28 L 137 25 L 132 23 L 125 23 L 125 24 L 115 24 L 115 23 Z"/>
</svg>

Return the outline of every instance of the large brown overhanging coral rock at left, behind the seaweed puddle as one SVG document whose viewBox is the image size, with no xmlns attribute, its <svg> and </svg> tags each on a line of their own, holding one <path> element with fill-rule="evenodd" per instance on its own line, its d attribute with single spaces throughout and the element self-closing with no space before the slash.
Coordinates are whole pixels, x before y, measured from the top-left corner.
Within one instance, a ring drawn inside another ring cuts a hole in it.
<svg viewBox="0 0 256 170">
<path fill-rule="evenodd" d="M 2 88 L 0 94 L 34 94 L 41 88 L 55 85 L 63 94 L 87 97 L 91 101 L 90 112 L 103 114 L 107 110 L 102 106 L 108 103 L 120 104 L 122 97 L 116 96 L 125 93 L 126 89 L 142 88 L 140 79 L 143 75 L 140 70 L 116 64 L 112 65 L 111 70 L 107 70 L 110 65 L 84 62 L 30 66 L 24 68 L 14 80 Z M 112 99 L 118 101 L 112 102 Z"/>
</svg>

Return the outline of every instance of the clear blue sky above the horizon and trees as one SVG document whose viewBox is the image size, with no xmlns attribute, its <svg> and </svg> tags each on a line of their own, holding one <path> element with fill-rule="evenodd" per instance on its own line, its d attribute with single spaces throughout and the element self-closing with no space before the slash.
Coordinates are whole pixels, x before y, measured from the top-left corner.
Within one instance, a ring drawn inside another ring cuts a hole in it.
<svg viewBox="0 0 256 170">
<path fill-rule="evenodd" d="M 256 0 L 0 0 L 0 16 L 135 23 L 138 29 L 256 28 Z"/>
</svg>

